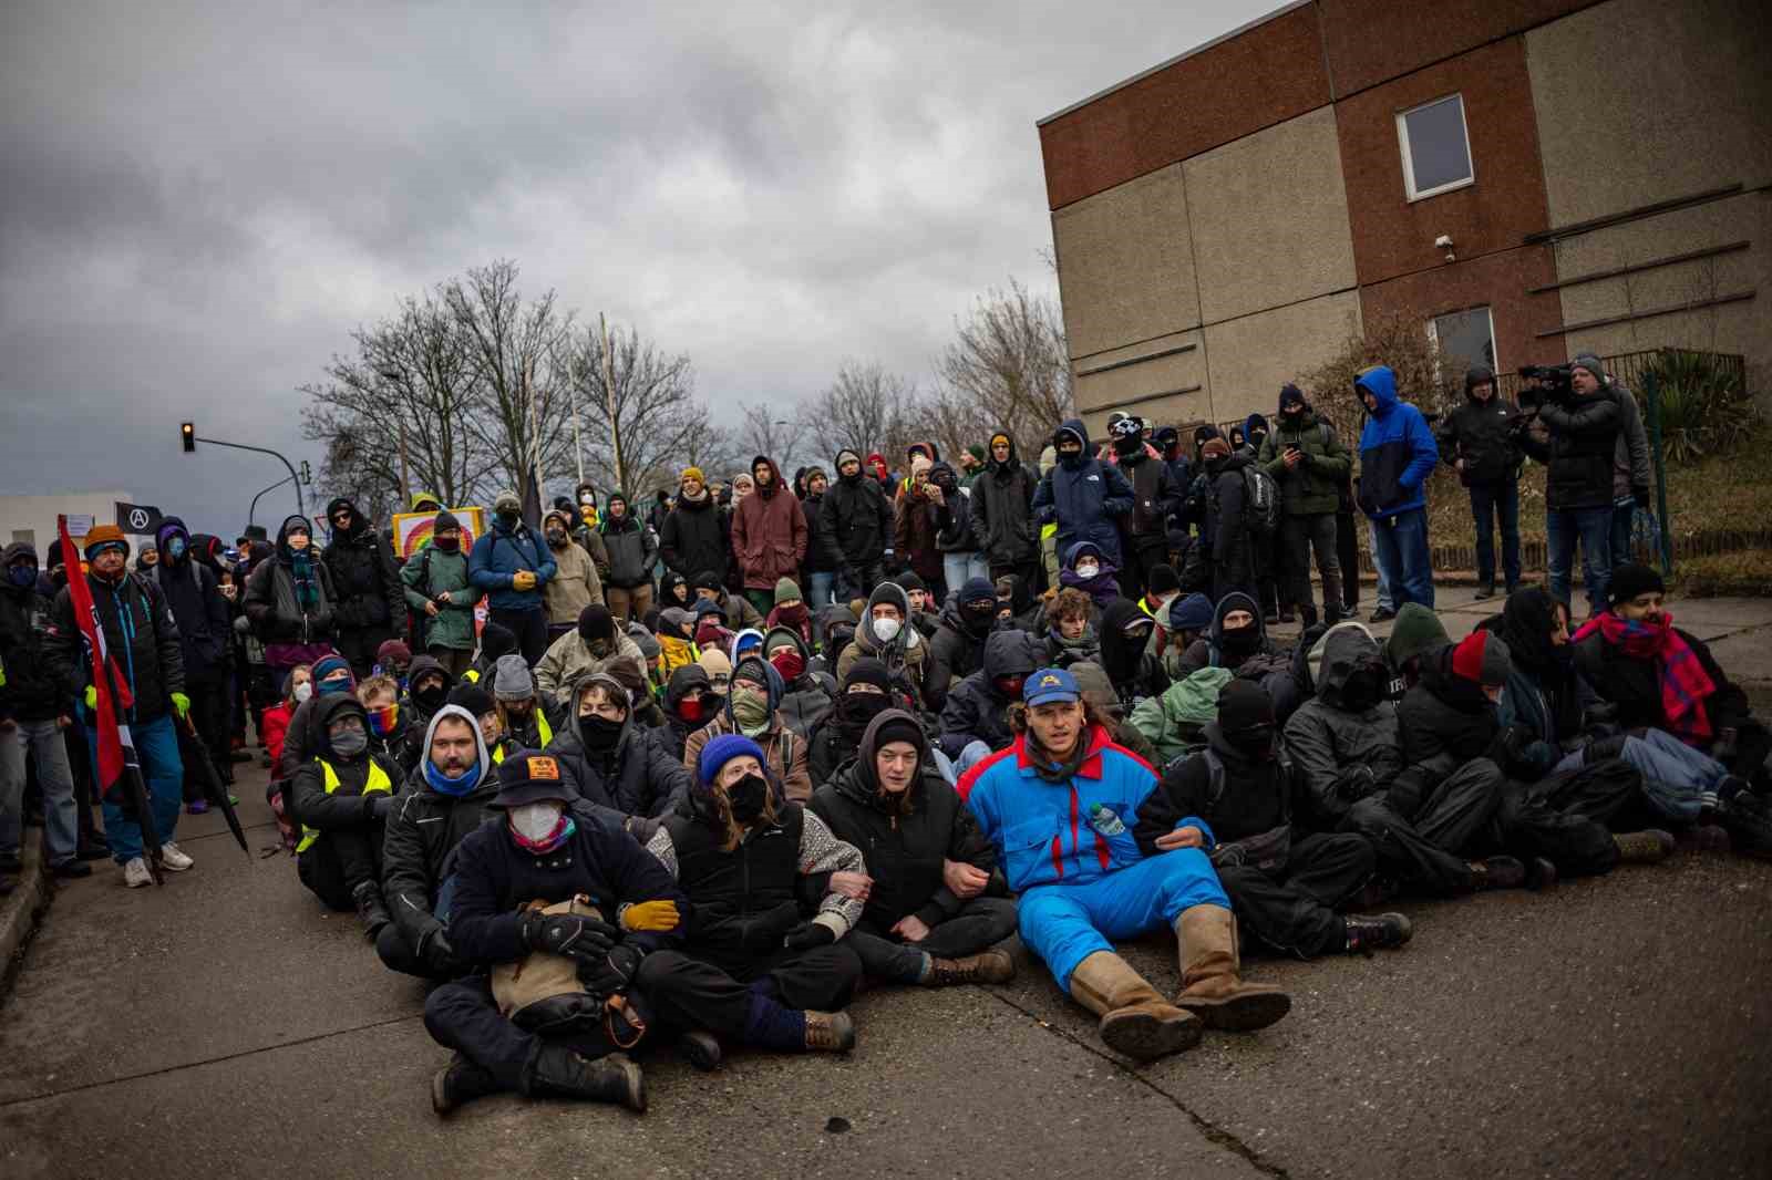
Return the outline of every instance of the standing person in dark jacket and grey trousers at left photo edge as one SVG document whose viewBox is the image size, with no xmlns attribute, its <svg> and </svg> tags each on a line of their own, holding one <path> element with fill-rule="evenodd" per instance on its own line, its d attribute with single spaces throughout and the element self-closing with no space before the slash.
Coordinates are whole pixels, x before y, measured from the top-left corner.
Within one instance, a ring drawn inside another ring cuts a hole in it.
<svg viewBox="0 0 1772 1180">
<path fill-rule="evenodd" d="M 23 868 L 25 758 L 43 787 L 43 852 L 57 877 L 89 877 L 80 859 L 80 810 L 62 730 L 74 696 L 44 657 L 53 601 L 37 583 L 37 551 L 14 540 L 0 553 L 0 895 Z"/>
</svg>

